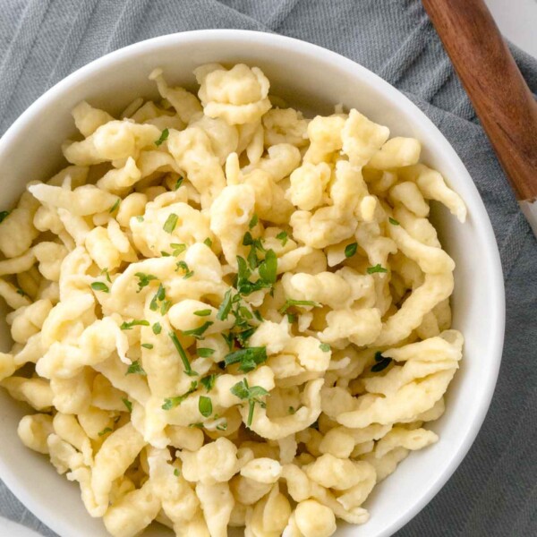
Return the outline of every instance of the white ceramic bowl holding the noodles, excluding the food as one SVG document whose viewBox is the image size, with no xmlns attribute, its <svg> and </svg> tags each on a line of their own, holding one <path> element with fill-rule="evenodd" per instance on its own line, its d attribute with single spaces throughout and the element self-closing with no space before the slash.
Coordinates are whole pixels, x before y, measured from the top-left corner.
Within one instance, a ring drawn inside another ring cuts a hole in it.
<svg viewBox="0 0 537 537">
<path fill-rule="evenodd" d="M 453 325 L 465 335 L 465 354 L 447 396 L 447 412 L 431 428 L 440 440 L 409 456 L 382 482 L 365 507 L 371 520 L 342 526 L 337 535 L 385 537 L 415 516 L 447 482 L 481 427 L 501 358 L 505 301 L 498 247 L 472 179 L 455 150 L 422 112 L 387 82 L 341 55 L 303 41 L 242 30 L 200 30 L 150 39 L 106 55 L 48 90 L 0 141 L 2 205 L 13 203 L 25 183 L 46 179 L 61 163 L 60 144 L 72 135 L 71 108 L 82 99 L 118 113 L 133 98 L 157 97 L 149 72 L 193 86 L 194 67 L 208 62 L 259 65 L 271 91 L 304 111 L 331 113 L 337 103 L 356 107 L 392 135 L 422 141 L 423 161 L 437 168 L 465 200 L 461 225 L 446 209 L 434 220 L 444 248 L 456 260 Z M 7 329 L 0 327 L 5 351 Z M 45 456 L 21 445 L 17 423 L 28 408 L 0 393 L 0 477 L 21 502 L 62 537 L 105 537 L 100 520 L 82 506 L 78 485 L 55 473 Z M 83 528 L 83 529 L 81 529 Z M 170 535 L 158 527 L 148 535 Z"/>
</svg>

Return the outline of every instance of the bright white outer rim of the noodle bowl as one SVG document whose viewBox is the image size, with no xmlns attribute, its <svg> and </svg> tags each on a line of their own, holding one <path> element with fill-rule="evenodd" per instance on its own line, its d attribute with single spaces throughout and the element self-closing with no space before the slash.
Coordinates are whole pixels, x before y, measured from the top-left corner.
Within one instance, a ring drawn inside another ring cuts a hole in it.
<svg viewBox="0 0 537 537">
<path fill-rule="evenodd" d="M 498 244 L 494 235 L 492 225 L 490 223 L 490 217 L 485 209 L 485 205 L 482 201 L 482 197 L 478 192 L 475 183 L 468 173 L 461 158 L 456 153 L 456 150 L 447 141 L 446 137 L 439 128 L 433 124 L 430 118 L 425 115 L 422 110 L 417 107 L 409 98 L 405 96 L 399 90 L 396 90 L 388 81 L 383 80 L 374 72 L 364 67 L 361 64 L 354 62 L 350 58 L 340 55 L 337 52 L 328 50 L 327 48 L 320 47 L 307 41 L 303 41 L 297 38 L 289 38 L 279 34 L 268 33 L 257 30 L 233 30 L 233 29 L 209 29 L 209 30 L 189 30 L 183 32 L 176 32 L 172 34 L 166 34 L 158 36 L 156 38 L 149 38 L 143 41 L 139 41 L 127 47 L 117 49 L 107 55 L 98 57 L 91 61 L 89 64 L 83 65 L 81 68 L 72 72 L 66 76 L 63 80 L 58 81 L 54 86 L 43 93 L 37 98 L 4 132 L 4 135 L 0 139 L 0 162 L 4 158 L 4 152 L 10 147 L 12 142 L 17 138 L 18 134 L 28 127 L 29 124 L 36 121 L 39 112 L 47 107 L 48 101 L 55 97 L 56 94 L 61 94 L 64 91 L 70 90 L 70 88 L 86 77 L 90 77 L 93 74 L 98 73 L 103 67 L 111 64 L 121 64 L 124 60 L 129 60 L 132 56 L 138 54 L 147 54 L 151 49 L 159 47 L 166 47 L 175 45 L 180 47 L 186 42 L 205 42 L 213 40 L 227 40 L 230 42 L 238 41 L 248 43 L 251 39 L 255 39 L 257 43 L 267 47 L 293 47 L 295 52 L 304 55 L 315 55 L 317 59 L 322 62 L 330 62 L 337 64 L 339 69 L 346 72 L 359 73 L 362 78 L 369 79 L 371 84 L 375 86 L 375 90 L 380 94 L 383 94 L 384 98 L 387 98 L 394 107 L 405 107 L 414 116 L 415 122 L 421 124 L 424 128 L 429 129 L 435 133 L 437 143 L 442 145 L 443 160 L 451 161 L 453 166 L 458 168 L 458 171 L 463 178 L 469 182 L 469 189 L 474 197 L 475 207 L 473 208 L 473 220 L 475 226 L 478 228 L 479 233 L 483 239 L 484 249 L 488 255 L 488 269 L 490 271 L 490 278 L 492 280 L 492 288 L 490 289 L 491 300 L 494 303 L 494 308 L 490 311 L 490 339 L 492 340 L 491 348 L 494 350 L 493 355 L 490 356 L 490 369 L 488 371 L 486 389 L 483 390 L 483 395 L 479 400 L 478 405 L 473 406 L 473 421 L 468 429 L 468 432 L 461 442 L 458 450 L 453 453 L 451 458 L 445 460 L 445 468 L 436 481 L 431 482 L 429 487 L 422 490 L 420 494 L 415 496 L 412 507 L 410 507 L 403 515 L 396 517 L 388 527 L 377 533 L 375 537 L 389 537 L 396 533 L 401 527 L 407 524 L 414 516 L 416 516 L 423 507 L 425 507 L 431 499 L 433 499 L 439 490 L 446 484 L 447 480 L 456 471 L 458 466 L 462 463 L 470 447 L 473 445 L 473 441 L 476 439 L 477 434 L 481 430 L 482 422 L 490 407 L 490 401 L 494 394 L 494 389 L 499 375 L 499 366 L 503 353 L 503 342 L 505 333 L 505 320 L 506 320 L 506 303 L 505 303 L 505 289 L 503 273 L 501 268 L 501 262 L 499 257 Z M 414 121 L 414 117 L 413 117 Z M 476 214 L 477 212 L 477 214 Z M 4 460 L 0 457 L 0 478 L 4 481 L 7 487 L 13 492 L 13 494 L 21 501 L 21 503 L 27 507 L 30 512 L 37 516 L 38 519 L 47 524 L 49 528 L 56 533 L 66 537 L 69 535 L 69 527 L 64 524 L 63 520 L 56 517 L 55 514 L 49 511 L 45 507 L 41 507 L 37 495 L 33 490 L 19 480 L 16 473 L 11 468 L 4 464 Z"/>
</svg>

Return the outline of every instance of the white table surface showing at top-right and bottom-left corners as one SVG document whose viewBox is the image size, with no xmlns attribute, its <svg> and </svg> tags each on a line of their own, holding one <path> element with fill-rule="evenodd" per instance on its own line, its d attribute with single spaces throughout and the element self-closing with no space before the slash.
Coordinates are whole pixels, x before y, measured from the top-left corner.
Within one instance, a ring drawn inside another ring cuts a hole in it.
<svg viewBox="0 0 537 537">
<path fill-rule="evenodd" d="M 517 47 L 537 57 L 537 0 L 485 0 L 499 30 Z M 0 537 L 39 537 L 0 516 Z"/>
</svg>

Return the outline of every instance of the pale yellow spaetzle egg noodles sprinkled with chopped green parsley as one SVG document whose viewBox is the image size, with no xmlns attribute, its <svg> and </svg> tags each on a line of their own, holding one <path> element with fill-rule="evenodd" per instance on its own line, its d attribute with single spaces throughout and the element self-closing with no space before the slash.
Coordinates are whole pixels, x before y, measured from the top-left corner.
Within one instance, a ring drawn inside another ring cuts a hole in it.
<svg viewBox="0 0 537 537">
<path fill-rule="evenodd" d="M 82 102 L 70 166 L 0 213 L 1 386 L 115 537 L 325 537 L 438 440 L 463 337 L 428 216 L 465 205 L 355 109 L 195 75 L 198 97 L 152 72 L 119 119 Z"/>
</svg>

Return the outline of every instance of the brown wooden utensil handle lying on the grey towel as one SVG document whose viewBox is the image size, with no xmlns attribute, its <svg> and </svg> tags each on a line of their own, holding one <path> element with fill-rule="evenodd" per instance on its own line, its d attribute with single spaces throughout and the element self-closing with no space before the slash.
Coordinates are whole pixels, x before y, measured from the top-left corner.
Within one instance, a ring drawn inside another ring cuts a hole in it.
<svg viewBox="0 0 537 537">
<path fill-rule="evenodd" d="M 537 103 L 482 0 L 422 0 L 518 200 L 537 198 Z"/>
</svg>

